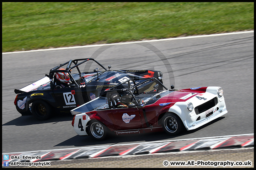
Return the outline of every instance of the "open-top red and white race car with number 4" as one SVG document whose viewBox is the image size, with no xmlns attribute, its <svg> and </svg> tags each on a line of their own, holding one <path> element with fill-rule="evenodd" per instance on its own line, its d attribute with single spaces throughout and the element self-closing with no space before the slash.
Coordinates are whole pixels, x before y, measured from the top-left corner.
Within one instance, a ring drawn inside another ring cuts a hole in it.
<svg viewBox="0 0 256 170">
<path fill-rule="evenodd" d="M 226 114 L 221 87 L 167 89 L 159 80 L 145 78 L 140 83 L 130 79 L 105 90 L 100 97 L 71 110 L 72 126 L 78 135 L 103 140 L 116 135 L 164 130 L 178 135 L 185 127 L 196 129 Z"/>
</svg>

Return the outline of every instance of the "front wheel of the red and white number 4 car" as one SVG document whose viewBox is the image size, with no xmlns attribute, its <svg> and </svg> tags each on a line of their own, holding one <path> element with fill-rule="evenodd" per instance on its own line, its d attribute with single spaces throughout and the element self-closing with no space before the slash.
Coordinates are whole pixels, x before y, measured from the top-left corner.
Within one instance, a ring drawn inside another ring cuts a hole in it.
<svg viewBox="0 0 256 170">
<path fill-rule="evenodd" d="M 167 134 L 175 136 L 181 133 L 184 125 L 176 114 L 165 113 L 162 117 L 162 127 Z"/>
</svg>

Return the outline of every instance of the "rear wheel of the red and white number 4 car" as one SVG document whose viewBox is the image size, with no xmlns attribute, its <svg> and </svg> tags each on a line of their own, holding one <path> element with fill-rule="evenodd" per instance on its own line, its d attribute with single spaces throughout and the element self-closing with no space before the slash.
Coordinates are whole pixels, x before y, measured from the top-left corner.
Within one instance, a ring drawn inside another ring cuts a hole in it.
<svg viewBox="0 0 256 170">
<path fill-rule="evenodd" d="M 88 126 L 89 135 L 94 139 L 101 141 L 108 135 L 108 128 L 97 120 L 91 120 Z"/>
</svg>

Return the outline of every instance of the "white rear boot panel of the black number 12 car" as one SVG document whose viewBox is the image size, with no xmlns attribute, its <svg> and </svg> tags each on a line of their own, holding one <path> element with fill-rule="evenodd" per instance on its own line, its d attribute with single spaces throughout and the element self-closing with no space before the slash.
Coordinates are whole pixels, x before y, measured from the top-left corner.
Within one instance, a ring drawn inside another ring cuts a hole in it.
<svg viewBox="0 0 256 170">
<path fill-rule="evenodd" d="M 32 91 L 34 89 L 37 89 L 41 85 L 48 83 L 48 82 L 50 82 L 50 79 L 49 79 L 49 77 L 46 76 L 46 77 L 44 77 L 44 78 L 42 78 L 40 80 L 37 80 L 34 83 L 32 83 L 30 85 L 27 85 L 27 86 L 25 86 L 25 87 L 23 87 L 23 88 L 21 88 L 19 90 L 15 89 L 14 92 L 15 92 L 15 94 L 30 92 L 30 91 Z"/>
</svg>

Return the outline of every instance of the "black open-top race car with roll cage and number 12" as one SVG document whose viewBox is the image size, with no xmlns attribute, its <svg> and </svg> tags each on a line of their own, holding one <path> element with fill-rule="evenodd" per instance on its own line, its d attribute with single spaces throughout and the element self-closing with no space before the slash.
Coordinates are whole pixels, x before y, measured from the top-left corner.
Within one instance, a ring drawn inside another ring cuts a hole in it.
<svg viewBox="0 0 256 170">
<path fill-rule="evenodd" d="M 90 70 L 93 68 L 94 70 Z M 21 115 L 34 115 L 39 120 L 50 118 L 52 113 L 70 113 L 102 92 L 118 84 L 120 88 L 130 88 L 143 81 L 143 78 L 155 77 L 162 83 L 162 73 L 154 70 L 110 70 L 93 58 L 70 60 L 50 69 L 49 75 L 14 92 L 18 94 L 14 104 Z M 58 74 L 68 77 L 67 84 L 58 85 Z M 142 78 L 140 80 L 140 78 Z M 145 86 L 146 84 L 143 84 Z"/>
</svg>

